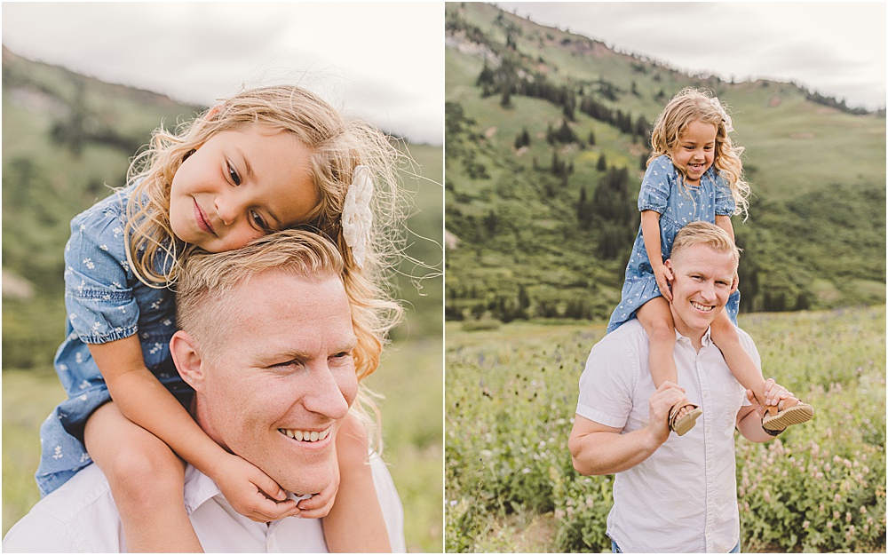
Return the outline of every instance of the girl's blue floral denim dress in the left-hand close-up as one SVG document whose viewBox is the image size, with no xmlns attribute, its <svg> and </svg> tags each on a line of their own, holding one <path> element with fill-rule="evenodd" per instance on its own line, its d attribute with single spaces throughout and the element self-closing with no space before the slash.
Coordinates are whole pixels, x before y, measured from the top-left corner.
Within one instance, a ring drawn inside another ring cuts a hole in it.
<svg viewBox="0 0 888 555">
<path fill-rule="evenodd" d="M 139 281 L 127 260 L 123 228 L 131 189 L 112 194 L 71 221 L 65 247 L 67 337 L 54 362 L 67 400 L 40 428 L 35 478 L 41 496 L 91 463 L 83 426 L 110 395 L 89 345 L 138 333 L 147 368 L 180 400 L 191 392 L 170 359 L 170 337 L 176 331 L 173 292 Z"/>
</svg>

